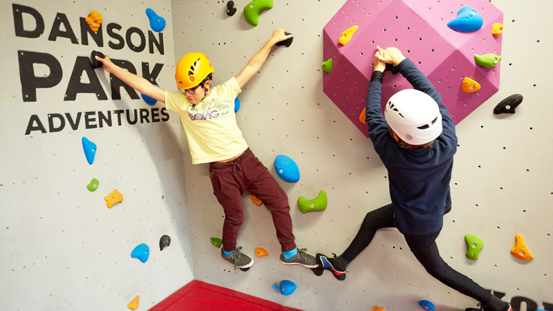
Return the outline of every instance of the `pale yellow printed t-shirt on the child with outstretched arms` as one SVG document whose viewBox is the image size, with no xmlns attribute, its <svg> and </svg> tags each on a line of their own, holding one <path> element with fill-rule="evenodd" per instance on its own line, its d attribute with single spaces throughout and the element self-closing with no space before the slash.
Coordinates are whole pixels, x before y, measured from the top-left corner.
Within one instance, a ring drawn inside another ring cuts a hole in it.
<svg viewBox="0 0 553 311">
<path fill-rule="evenodd" d="M 165 107 L 180 115 L 185 128 L 192 164 L 227 160 L 247 149 L 234 113 L 238 93 L 241 89 L 234 77 L 214 87 L 196 105 L 180 92 L 165 91 Z"/>
</svg>

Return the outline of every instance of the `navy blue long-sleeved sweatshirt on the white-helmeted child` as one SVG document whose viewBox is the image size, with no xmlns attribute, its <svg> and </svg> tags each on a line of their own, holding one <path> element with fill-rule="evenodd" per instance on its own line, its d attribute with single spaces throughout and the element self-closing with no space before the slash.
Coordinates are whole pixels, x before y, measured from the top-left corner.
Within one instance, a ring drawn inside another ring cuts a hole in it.
<svg viewBox="0 0 553 311">
<path fill-rule="evenodd" d="M 409 59 L 397 70 L 413 88 L 430 95 L 440 107 L 443 131 L 433 148 L 404 149 L 395 142 L 382 115 L 382 81 L 368 84 L 366 122 L 368 135 L 388 169 L 394 224 L 402 234 L 424 235 L 442 229 L 443 216 L 451 210 L 449 181 L 457 151 L 455 125 L 442 97 L 429 79 Z M 376 73 L 379 75 L 379 73 Z M 374 81 L 376 80 L 376 81 Z"/>
</svg>

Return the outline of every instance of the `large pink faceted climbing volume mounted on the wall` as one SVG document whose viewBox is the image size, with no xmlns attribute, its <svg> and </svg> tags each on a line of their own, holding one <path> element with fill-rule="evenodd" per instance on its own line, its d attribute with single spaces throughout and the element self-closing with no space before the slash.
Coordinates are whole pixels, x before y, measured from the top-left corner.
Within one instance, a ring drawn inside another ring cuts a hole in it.
<svg viewBox="0 0 553 311">
<path fill-rule="evenodd" d="M 447 26 L 464 6 L 482 15 L 480 30 L 458 32 Z M 359 115 L 376 46 L 395 46 L 429 77 L 458 124 L 498 91 L 501 62 L 493 68 L 474 62 L 474 54 L 501 55 L 503 35 L 492 35 L 494 23 L 503 23 L 503 12 L 487 0 L 348 0 L 324 27 L 324 61 L 332 58 L 332 72 L 323 73 L 324 93 L 368 136 Z M 359 28 L 346 45 L 339 44 L 341 33 L 352 26 Z M 480 90 L 463 92 L 465 77 L 478 82 Z M 386 72 L 383 104 L 405 88 L 411 84 L 401 74 Z"/>
</svg>

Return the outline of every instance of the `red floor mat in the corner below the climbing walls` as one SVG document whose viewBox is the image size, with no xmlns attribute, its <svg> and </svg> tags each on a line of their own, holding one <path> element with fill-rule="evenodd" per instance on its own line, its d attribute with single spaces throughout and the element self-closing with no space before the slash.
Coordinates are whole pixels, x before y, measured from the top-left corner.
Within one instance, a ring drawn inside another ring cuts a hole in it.
<svg viewBox="0 0 553 311">
<path fill-rule="evenodd" d="M 301 311 L 220 286 L 191 281 L 150 311 Z"/>
</svg>

